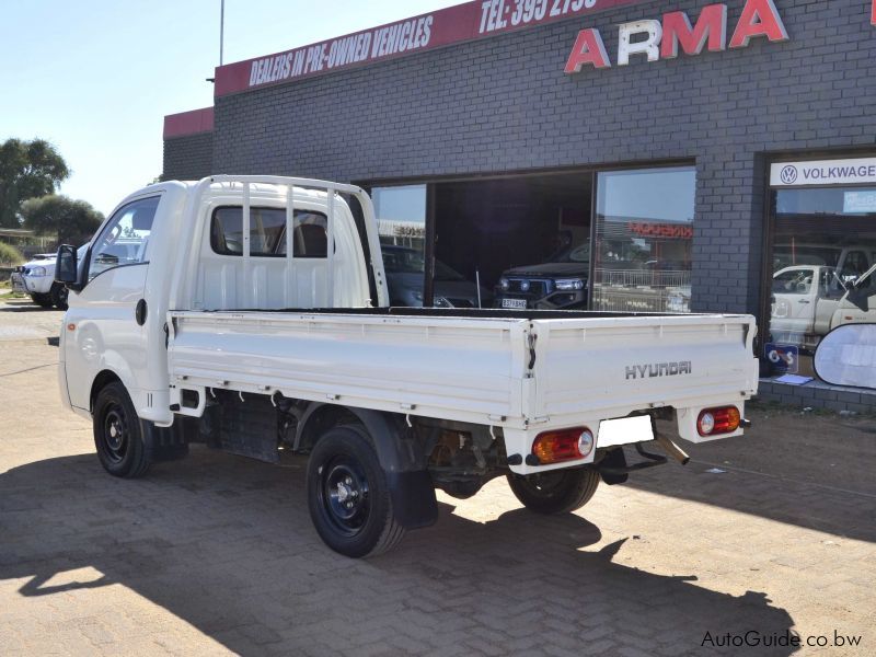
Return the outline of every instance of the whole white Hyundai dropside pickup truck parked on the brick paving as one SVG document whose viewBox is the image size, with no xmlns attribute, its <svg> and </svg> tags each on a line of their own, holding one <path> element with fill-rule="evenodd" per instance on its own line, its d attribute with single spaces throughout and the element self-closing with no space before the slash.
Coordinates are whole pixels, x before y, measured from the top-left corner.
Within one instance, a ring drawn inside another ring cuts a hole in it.
<svg viewBox="0 0 876 657">
<path fill-rule="evenodd" d="M 435 488 L 507 476 L 530 509 L 577 509 L 666 462 L 643 443 L 685 462 L 670 437 L 741 435 L 758 385 L 747 315 L 389 308 L 371 200 L 337 183 L 152 185 L 57 273 L 61 396 L 111 474 L 196 441 L 309 454 L 316 531 L 354 557 L 435 522 Z"/>
</svg>

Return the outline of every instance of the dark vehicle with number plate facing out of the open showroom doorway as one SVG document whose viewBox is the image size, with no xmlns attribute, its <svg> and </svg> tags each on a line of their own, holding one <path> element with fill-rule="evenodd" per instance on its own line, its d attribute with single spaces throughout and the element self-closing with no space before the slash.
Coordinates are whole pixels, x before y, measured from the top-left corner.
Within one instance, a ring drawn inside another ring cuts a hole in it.
<svg viewBox="0 0 876 657">
<path fill-rule="evenodd" d="M 587 308 L 590 242 L 554 254 L 548 262 L 506 270 L 496 288 L 496 308 L 574 310 Z"/>
</svg>

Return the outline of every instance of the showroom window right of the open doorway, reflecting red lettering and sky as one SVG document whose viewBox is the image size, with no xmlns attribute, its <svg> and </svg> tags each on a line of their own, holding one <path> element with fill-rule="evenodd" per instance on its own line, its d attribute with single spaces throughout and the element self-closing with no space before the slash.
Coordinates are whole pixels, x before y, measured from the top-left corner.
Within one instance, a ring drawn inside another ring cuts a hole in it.
<svg viewBox="0 0 876 657">
<path fill-rule="evenodd" d="M 693 166 L 597 175 L 592 309 L 690 312 Z"/>
</svg>

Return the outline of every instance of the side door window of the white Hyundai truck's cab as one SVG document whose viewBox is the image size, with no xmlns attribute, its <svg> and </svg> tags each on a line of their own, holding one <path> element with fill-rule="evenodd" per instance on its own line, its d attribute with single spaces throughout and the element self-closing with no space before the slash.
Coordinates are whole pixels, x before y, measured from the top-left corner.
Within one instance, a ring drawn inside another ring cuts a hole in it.
<svg viewBox="0 0 876 657">
<path fill-rule="evenodd" d="M 89 280 L 125 265 L 146 263 L 149 235 L 160 198 L 143 198 L 120 207 L 101 232 L 91 250 Z"/>
</svg>

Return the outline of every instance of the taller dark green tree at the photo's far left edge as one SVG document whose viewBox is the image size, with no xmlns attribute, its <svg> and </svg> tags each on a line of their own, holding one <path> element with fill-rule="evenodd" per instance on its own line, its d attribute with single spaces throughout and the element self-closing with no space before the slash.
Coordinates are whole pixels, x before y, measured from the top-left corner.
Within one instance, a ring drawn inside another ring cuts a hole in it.
<svg viewBox="0 0 876 657">
<path fill-rule="evenodd" d="M 70 175 L 57 149 L 44 139 L 0 145 L 0 227 L 19 228 L 21 204 L 54 194 Z"/>
</svg>

